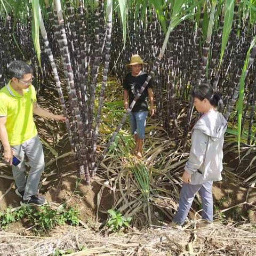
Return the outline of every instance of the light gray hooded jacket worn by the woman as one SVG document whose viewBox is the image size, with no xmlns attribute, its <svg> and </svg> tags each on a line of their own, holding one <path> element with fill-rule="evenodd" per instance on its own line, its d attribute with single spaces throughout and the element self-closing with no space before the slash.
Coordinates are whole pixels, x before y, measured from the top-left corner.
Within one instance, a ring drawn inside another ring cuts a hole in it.
<svg viewBox="0 0 256 256">
<path fill-rule="evenodd" d="M 185 170 L 191 185 L 221 180 L 223 141 L 227 121 L 218 111 L 203 115 L 192 129 L 191 149 Z"/>
</svg>

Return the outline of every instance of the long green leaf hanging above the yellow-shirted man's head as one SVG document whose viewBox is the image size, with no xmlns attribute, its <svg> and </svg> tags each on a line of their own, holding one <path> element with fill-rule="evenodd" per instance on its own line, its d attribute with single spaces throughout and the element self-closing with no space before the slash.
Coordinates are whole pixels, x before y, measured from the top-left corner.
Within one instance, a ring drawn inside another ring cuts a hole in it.
<svg viewBox="0 0 256 256">
<path fill-rule="evenodd" d="M 41 72 L 43 74 L 43 69 L 42 69 L 42 64 L 41 64 L 41 49 L 40 49 L 40 41 L 39 41 L 39 25 L 40 25 L 40 20 L 39 20 L 39 11 L 40 11 L 40 6 L 39 6 L 39 0 L 34 0 L 32 2 L 32 9 L 33 9 L 33 21 L 32 21 L 32 38 L 33 38 L 33 43 L 35 46 L 35 51 L 36 51 L 36 56 L 39 62 L 39 66 L 41 68 Z"/>
</svg>

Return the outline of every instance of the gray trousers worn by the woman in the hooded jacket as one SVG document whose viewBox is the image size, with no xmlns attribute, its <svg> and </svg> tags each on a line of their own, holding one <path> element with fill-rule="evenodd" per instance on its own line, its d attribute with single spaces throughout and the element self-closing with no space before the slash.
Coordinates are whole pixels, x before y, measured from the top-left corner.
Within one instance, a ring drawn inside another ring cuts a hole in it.
<svg viewBox="0 0 256 256">
<path fill-rule="evenodd" d="M 212 181 L 201 185 L 183 183 L 180 191 L 178 211 L 173 219 L 175 223 L 183 225 L 197 191 L 202 199 L 202 219 L 213 221 L 212 183 Z"/>
</svg>

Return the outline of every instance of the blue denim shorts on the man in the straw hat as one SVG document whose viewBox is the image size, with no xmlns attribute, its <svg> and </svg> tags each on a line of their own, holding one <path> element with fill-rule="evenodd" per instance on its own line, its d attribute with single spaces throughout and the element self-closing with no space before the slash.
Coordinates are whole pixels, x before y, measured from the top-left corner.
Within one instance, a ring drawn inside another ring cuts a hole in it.
<svg viewBox="0 0 256 256">
<path fill-rule="evenodd" d="M 145 138 L 146 119 L 148 111 L 131 112 L 130 113 L 130 124 L 132 134 L 137 134 L 139 139 Z"/>
</svg>

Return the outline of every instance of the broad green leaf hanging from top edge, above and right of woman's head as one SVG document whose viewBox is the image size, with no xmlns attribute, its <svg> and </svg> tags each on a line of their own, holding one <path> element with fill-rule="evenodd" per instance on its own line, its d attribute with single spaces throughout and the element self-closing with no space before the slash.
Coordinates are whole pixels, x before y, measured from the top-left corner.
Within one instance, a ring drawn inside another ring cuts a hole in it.
<svg viewBox="0 0 256 256">
<path fill-rule="evenodd" d="M 235 0 L 227 0 L 225 3 L 225 17 L 223 23 L 222 30 L 222 42 L 221 42 L 221 53 L 220 53 L 220 63 L 222 62 L 222 58 L 226 49 L 226 45 L 228 43 L 228 38 L 230 35 L 233 18 L 234 18 L 234 7 Z"/>
</svg>

